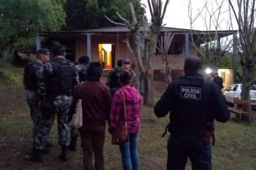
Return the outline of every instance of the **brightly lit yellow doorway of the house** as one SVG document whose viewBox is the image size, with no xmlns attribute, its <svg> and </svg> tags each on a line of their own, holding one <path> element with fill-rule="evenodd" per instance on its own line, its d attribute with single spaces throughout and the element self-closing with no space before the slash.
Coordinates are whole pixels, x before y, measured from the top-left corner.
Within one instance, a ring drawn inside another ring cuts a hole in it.
<svg viewBox="0 0 256 170">
<path fill-rule="evenodd" d="M 111 43 L 98 44 L 98 61 L 103 69 L 110 70 L 115 67 L 115 45 Z"/>
</svg>

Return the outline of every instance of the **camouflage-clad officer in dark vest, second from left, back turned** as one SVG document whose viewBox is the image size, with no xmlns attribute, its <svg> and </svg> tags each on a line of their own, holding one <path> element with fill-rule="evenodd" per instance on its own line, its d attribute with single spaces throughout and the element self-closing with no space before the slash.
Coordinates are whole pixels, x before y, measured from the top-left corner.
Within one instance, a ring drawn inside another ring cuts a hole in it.
<svg viewBox="0 0 256 170">
<path fill-rule="evenodd" d="M 76 66 L 65 58 L 66 49 L 62 45 L 54 48 L 54 59 L 45 64 L 46 96 L 51 98 L 57 112 L 59 144 L 61 155 L 59 159 L 67 161 L 66 150 L 69 145 L 67 114 L 72 101 L 73 89 L 79 82 Z M 54 120 L 55 115 L 50 117 Z"/>
</svg>

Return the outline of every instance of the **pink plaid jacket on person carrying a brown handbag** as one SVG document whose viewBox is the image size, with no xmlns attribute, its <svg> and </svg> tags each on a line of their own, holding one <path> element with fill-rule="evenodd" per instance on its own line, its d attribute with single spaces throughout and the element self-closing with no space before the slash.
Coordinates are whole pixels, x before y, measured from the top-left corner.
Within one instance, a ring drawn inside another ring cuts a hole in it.
<svg viewBox="0 0 256 170">
<path fill-rule="evenodd" d="M 121 88 L 115 92 L 110 111 L 109 132 L 112 133 L 114 128 L 121 123 L 120 114 L 124 114 L 124 103 L 122 92 L 125 96 L 126 105 L 126 123 L 128 133 L 139 132 L 139 117 L 141 116 L 141 94 L 134 87 Z"/>
</svg>

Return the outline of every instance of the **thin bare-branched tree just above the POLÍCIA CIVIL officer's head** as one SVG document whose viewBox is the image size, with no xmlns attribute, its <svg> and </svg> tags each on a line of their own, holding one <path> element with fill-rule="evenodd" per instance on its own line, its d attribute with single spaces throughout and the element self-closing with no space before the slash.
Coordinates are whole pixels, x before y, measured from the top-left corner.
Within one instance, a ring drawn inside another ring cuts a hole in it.
<svg viewBox="0 0 256 170">
<path fill-rule="evenodd" d="M 192 0 L 189 0 L 190 44 L 202 57 L 204 64 L 214 71 L 223 65 L 225 54 L 233 45 L 233 38 L 227 37 L 228 34 L 233 33 L 233 24 L 230 9 L 224 8 L 227 6 L 225 2 L 225 0 L 210 2 L 206 0 L 204 6 L 194 13 Z M 204 23 L 205 31 L 194 30 L 197 20 Z"/>
</svg>

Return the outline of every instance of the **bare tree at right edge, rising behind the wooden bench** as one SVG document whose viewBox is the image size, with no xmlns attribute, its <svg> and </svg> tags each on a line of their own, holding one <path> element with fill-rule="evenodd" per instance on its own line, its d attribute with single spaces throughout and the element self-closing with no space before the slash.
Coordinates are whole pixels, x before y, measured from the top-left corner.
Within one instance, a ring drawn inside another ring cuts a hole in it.
<svg viewBox="0 0 256 170">
<path fill-rule="evenodd" d="M 242 67 L 241 99 L 250 101 L 250 89 L 256 71 L 255 0 L 237 0 L 237 4 L 229 0 L 229 3 L 239 31 L 237 47 Z"/>
</svg>

